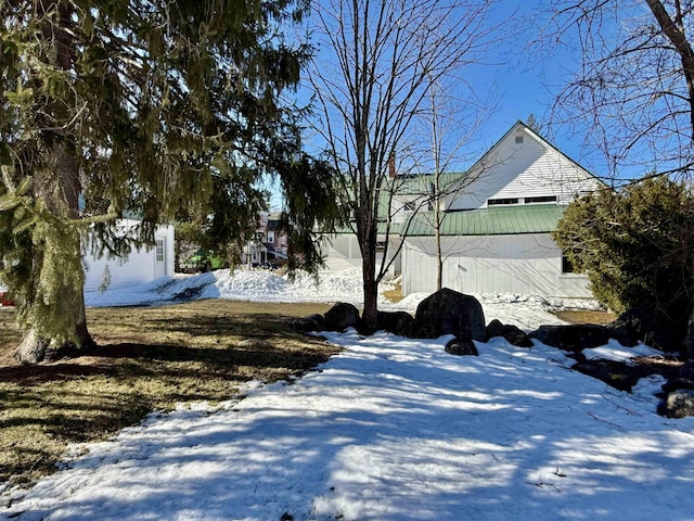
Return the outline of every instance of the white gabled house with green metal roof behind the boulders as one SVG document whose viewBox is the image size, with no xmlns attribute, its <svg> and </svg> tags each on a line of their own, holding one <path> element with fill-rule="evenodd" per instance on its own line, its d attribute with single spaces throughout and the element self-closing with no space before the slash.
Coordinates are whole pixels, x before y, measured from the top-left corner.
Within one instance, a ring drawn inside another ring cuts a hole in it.
<svg viewBox="0 0 694 521">
<path fill-rule="evenodd" d="M 417 212 L 408 212 L 424 193 L 420 190 L 417 195 L 411 188 L 430 180 L 432 176 L 409 180 L 410 190 L 400 196 L 403 215 L 394 219 L 401 220 L 401 237 L 395 239 L 403 245 L 396 266 L 404 295 L 436 290 L 433 212 L 421 203 Z M 588 278 L 573 272 L 551 237 L 566 205 L 600 187 L 592 174 L 517 122 L 466 173 L 447 174 L 446 182 L 459 182 L 460 189 L 439 202 L 444 287 L 466 293 L 592 296 Z M 332 246 L 338 259 L 351 257 L 358 264 L 356 237 L 335 239 L 338 246 Z"/>
</svg>

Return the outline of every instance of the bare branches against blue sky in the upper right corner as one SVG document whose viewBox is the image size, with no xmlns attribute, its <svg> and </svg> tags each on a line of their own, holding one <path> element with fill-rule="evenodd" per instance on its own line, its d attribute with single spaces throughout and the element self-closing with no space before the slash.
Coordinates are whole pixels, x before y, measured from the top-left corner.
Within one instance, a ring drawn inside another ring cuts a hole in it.
<svg viewBox="0 0 694 521">
<path fill-rule="evenodd" d="M 552 39 L 577 38 L 581 65 L 555 120 L 584 127 L 611 174 L 691 176 L 694 168 L 694 2 L 554 0 Z"/>
</svg>

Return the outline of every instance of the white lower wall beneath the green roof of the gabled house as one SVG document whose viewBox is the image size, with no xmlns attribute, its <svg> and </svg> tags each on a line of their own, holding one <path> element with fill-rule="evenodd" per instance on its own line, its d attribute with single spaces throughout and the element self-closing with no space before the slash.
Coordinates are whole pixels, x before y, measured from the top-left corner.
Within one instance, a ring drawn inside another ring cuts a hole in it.
<svg viewBox="0 0 694 521">
<path fill-rule="evenodd" d="M 442 285 L 463 293 L 591 297 L 588 279 L 562 274 L 549 233 L 445 237 Z M 402 252 L 402 294 L 436 291 L 434 238 L 410 238 Z"/>
</svg>

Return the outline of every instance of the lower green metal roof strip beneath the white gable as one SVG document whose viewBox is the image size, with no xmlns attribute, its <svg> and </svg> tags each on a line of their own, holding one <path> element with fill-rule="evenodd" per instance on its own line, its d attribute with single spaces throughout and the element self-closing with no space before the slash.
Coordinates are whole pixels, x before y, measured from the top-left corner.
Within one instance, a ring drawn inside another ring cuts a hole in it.
<svg viewBox="0 0 694 521">
<path fill-rule="evenodd" d="M 565 206 L 526 204 L 448 212 L 442 214 L 442 236 L 505 236 L 547 233 L 556 229 Z M 402 225 L 409 237 L 434 236 L 434 214 L 420 212 Z"/>
</svg>

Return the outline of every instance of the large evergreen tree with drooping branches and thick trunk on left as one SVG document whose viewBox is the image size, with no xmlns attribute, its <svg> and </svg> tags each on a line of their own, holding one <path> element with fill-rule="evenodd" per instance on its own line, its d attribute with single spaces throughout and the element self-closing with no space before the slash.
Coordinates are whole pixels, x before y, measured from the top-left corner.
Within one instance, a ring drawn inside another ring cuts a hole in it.
<svg viewBox="0 0 694 521">
<path fill-rule="evenodd" d="M 281 33 L 304 0 L 0 0 L 0 277 L 38 361 L 91 343 L 80 240 L 126 254 L 115 220 L 213 215 L 220 242 L 255 229 L 278 176 L 306 236 L 334 209 L 331 171 L 281 100 L 309 49 Z M 292 257 L 292 256 L 291 256 Z"/>
</svg>

